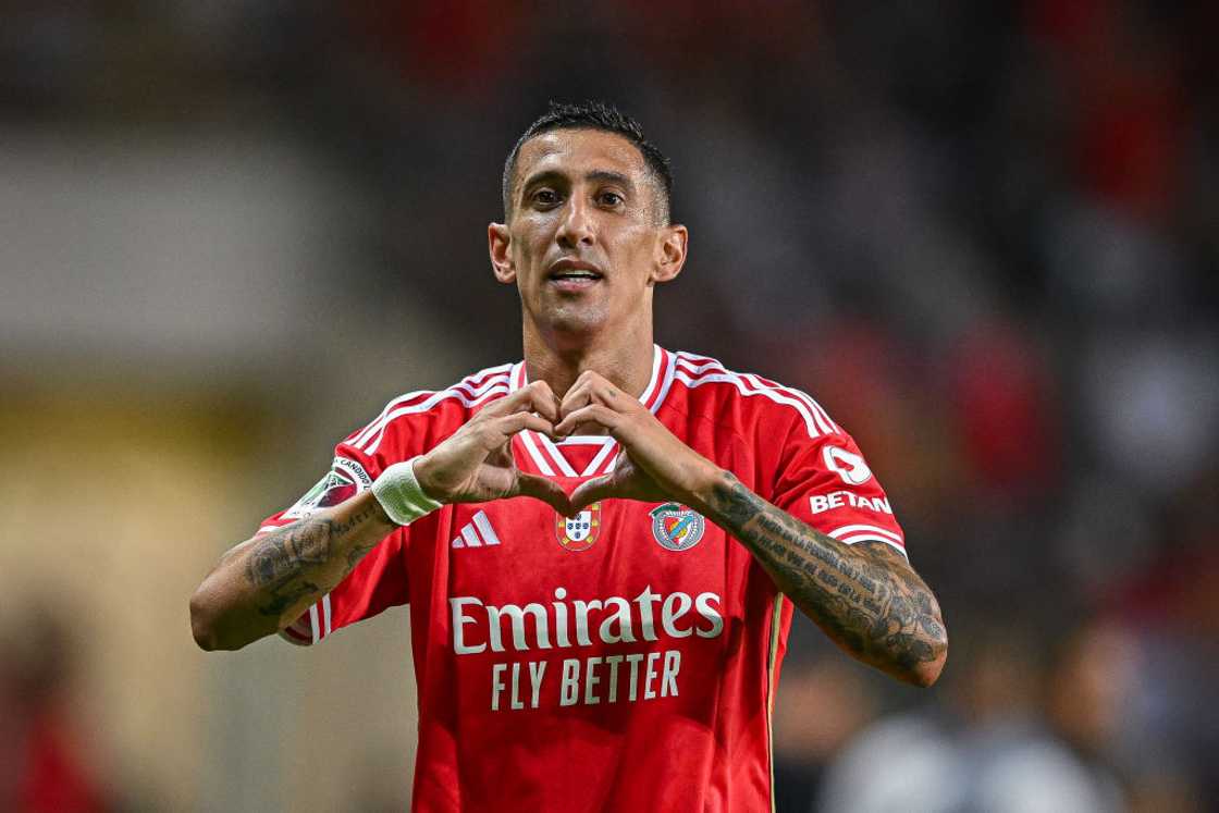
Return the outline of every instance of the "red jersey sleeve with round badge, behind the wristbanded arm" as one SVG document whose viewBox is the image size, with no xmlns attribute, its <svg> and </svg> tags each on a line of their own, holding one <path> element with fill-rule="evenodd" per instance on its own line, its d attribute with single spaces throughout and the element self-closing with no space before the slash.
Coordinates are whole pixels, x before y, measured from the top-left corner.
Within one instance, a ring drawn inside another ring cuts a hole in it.
<svg viewBox="0 0 1219 813">
<path fill-rule="evenodd" d="M 334 462 L 322 479 L 291 507 L 267 517 L 261 523 L 258 534 L 290 525 L 319 508 L 336 506 L 372 486 L 380 474 L 382 462 L 356 449 L 350 440 L 335 447 Z M 360 559 L 334 590 L 280 630 L 280 637 L 308 646 L 347 624 L 407 603 L 410 596 L 403 556 L 406 544 L 407 528 L 391 533 Z"/>
</svg>

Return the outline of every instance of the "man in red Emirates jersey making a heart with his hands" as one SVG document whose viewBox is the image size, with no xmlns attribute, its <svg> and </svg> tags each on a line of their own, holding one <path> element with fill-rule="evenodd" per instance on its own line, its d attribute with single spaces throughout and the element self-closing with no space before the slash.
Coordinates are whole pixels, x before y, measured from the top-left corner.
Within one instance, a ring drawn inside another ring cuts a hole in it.
<svg viewBox="0 0 1219 813">
<path fill-rule="evenodd" d="M 410 601 L 417 809 L 769 808 L 794 606 L 901 680 L 942 668 L 851 438 L 803 392 L 652 344 L 686 258 L 670 189 L 634 121 L 552 105 L 488 232 L 524 361 L 391 401 L 191 600 L 205 650 Z"/>
</svg>

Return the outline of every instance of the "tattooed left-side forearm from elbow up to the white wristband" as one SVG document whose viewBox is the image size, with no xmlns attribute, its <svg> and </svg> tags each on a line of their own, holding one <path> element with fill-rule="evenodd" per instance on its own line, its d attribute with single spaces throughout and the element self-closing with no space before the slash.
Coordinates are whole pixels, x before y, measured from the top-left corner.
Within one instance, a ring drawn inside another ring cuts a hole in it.
<svg viewBox="0 0 1219 813">
<path fill-rule="evenodd" d="M 190 597 L 204 650 L 239 650 L 295 622 L 397 525 L 364 491 L 229 550 Z"/>
</svg>

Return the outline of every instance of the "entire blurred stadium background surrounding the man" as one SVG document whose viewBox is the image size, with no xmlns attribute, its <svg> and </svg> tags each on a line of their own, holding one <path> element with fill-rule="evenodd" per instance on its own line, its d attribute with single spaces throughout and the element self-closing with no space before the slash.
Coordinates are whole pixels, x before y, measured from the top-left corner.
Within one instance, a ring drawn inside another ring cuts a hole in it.
<svg viewBox="0 0 1219 813">
<path fill-rule="evenodd" d="M 918 691 L 797 623 L 779 809 L 1219 809 L 1217 23 L 0 1 L 0 809 L 406 807 L 406 609 L 204 655 L 187 600 L 388 399 L 519 357 L 502 161 L 590 96 L 673 160 L 658 340 L 825 405 L 952 631 Z"/>
</svg>

